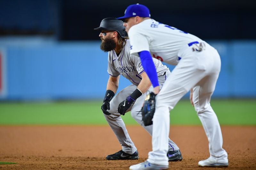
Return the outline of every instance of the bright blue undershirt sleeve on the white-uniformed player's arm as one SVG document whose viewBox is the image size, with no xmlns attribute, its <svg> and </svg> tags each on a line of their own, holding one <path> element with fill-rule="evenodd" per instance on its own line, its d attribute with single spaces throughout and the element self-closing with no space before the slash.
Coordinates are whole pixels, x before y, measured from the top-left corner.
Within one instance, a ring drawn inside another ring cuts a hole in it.
<svg viewBox="0 0 256 170">
<path fill-rule="evenodd" d="M 141 64 L 145 72 L 147 73 L 153 87 L 159 86 L 155 64 L 149 51 L 141 51 L 138 54 L 140 55 Z"/>
</svg>

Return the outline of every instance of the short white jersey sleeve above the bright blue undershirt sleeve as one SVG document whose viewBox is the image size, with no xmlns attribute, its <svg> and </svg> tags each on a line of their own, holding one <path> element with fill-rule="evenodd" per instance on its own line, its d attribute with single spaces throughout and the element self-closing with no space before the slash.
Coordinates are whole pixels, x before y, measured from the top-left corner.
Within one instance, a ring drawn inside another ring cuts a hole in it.
<svg viewBox="0 0 256 170">
<path fill-rule="evenodd" d="M 131 42 L 130 53 L 135 54 L 140 51 L 149 51 L 149 37 L 140 28 L 132 26 L 128 31 Z"/>
</svg>

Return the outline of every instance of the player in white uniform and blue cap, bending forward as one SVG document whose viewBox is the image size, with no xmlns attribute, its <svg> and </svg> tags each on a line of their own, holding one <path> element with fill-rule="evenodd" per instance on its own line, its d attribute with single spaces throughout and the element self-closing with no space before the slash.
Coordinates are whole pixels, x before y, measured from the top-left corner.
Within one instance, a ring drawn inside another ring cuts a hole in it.
<svg viewBox="0 0 256 170">
<path fill-rule="evenodd" d="M 139 55 L 156 95 L 153 121 L 152 151 L 148 159 L 130 166 L 132 170 L 168 168 L 168 134 L 170 110 L 190 90 L 199 119 L 209 141 L 210 157 L 199 166 L 228 166 L 228 154 L 222 148 L 220 124 L 210 100 L 220 73 L 220 55 L 200 38 L 150 18 L 149 10 L 141 4 L 127 7 L 125 30 L 131 41 L 130 53 Z M 176 65 L 162 89 L 157 80 L 152 57 Z M 160 91 L 161 89 L 161 91 Z"/>
</svg>

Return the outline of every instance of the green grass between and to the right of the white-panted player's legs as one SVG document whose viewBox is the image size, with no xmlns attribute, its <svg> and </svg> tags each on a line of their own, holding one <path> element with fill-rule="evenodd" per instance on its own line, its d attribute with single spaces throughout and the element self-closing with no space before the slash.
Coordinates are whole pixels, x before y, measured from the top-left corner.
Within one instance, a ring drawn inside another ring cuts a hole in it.
<svg viewBox="0 0 256 170">
<path fill-rule="evenodd" d="M 256 125 L 256 100 L 212 100 L 221 125 Z M 201 125 L 190 101 L 181 100 L 170 112 L 171 124 Z"/>
</svg>

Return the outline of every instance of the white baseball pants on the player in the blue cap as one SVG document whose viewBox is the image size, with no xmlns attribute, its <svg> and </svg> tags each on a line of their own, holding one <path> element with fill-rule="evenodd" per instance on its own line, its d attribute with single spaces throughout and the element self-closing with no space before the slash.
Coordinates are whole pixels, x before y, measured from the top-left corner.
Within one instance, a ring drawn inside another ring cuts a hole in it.
<svg viewBox="0 0 256 170">
<path fill-rule="evenodd" d="M 220 72 L 220 55 L 206 42 L 205 45 L 205 50 L 200 52 L 193 52 L 192 47 L 186 47 L 179 51 L 180 62 L 156 95 L 156 112 L 153 117 L 153 148 L 148 153 L 148 162 L 150 163 L 168 165 L 166 153 L 170 130 L 170 110 L 191 88 L 193 88 L 195 110 L 209 141 L 210 155 L 216 159 L 227 160 L 227 152 L 222 148 L 220 124 L 210 105 Z"/>
</svg>

